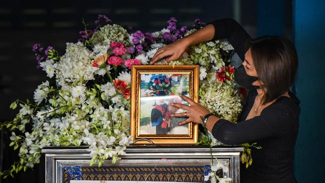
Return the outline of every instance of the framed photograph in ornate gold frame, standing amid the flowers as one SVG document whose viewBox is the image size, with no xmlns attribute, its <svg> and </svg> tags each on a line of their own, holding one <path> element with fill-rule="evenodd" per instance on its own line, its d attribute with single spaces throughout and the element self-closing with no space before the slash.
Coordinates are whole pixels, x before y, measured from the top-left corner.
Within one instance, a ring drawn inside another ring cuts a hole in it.
<svg viewBox="0 0 325 183">
<path fill-rule="evenodd" d="M 170 114 L 184 112 L 171 102 L 188 105 L 184 94 L 198 101 L 198 65 L 132 65 L 130 134 L 135 144 L 194 144 L 195 123 L 178 126 L 185 117 Z"/>
</svg>

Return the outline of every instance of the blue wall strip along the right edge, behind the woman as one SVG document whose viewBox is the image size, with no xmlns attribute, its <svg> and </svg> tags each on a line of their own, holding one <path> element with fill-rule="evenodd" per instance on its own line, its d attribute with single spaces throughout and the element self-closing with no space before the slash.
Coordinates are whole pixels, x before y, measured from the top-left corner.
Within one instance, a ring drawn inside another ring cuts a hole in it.
<svg viewBox="0 0 325 183">
<path fill-rule="evenodd" d="M 298 182 L 325 182 L 325 0 L 293 0 L 293 33 L 301 101 L 295 176 Z"/>
</svg>

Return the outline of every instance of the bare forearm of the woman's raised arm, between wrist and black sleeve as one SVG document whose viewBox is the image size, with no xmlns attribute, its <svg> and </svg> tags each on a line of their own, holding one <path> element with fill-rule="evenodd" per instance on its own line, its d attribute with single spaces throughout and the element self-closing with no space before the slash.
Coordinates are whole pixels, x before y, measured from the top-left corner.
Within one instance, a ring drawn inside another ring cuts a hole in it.
<svg viewBox="0 0 325 183">
<path fill-rule="evenodd" d="M 208 24 L 203 28 L 183 37 L 183 40 L 189 46 L 199 42 L 211 40 L 213 36 L 214 36 L 214 26 L 212 24 Z"/>
</svg>

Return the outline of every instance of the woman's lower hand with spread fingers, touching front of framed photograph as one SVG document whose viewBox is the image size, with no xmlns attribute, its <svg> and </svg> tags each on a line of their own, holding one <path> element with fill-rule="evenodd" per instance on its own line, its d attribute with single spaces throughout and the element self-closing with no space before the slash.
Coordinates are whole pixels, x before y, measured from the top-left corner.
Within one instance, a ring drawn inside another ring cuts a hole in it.
<svg viewBox="0 0 325 183">
<path fill-rule="evenodd" d="M 202 117 L 210 113 L 210 111 L 183 94 L 180 94 L 179 96 L 187 101 L 189 106 L 181 103 L 171 103 L 171 106 L 173 107 L 186 110 L 186 112 L 174 113 L 171 115 L 173 117 L 188 117 L 186 120 L 179 122 L 178 125 L 180 126 L 189 122 L 202 123 Z"/>
</svg>

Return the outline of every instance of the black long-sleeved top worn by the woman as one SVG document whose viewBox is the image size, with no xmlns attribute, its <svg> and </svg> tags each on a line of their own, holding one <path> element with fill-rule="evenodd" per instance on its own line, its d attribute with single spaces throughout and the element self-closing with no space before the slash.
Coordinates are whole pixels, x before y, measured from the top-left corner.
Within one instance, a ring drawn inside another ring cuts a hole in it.
<svg viewBox="0 0 325 183">
<path fill-rule="evenodd" d="M 243 60 L 244 42 L 251 39 L 233 19 L 210 22 L 214 26 L 213 39 L 227 38 Z M 245 120 L 257 95 L 256 89 L 248 92 L 238 122 L 219 119 L 212 134 L 225 144 L 257 142 L 261 149 L 251 149 L 252 164 L 246 169 L 240 165 L 240 182 L 296 182 L 293 173 L 293 153 L 299 127 L 299 100 L 291 92 L 265 107 L 259 116 Z"/>
</svg>

